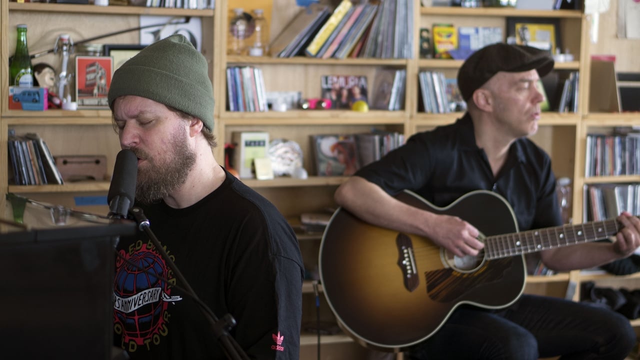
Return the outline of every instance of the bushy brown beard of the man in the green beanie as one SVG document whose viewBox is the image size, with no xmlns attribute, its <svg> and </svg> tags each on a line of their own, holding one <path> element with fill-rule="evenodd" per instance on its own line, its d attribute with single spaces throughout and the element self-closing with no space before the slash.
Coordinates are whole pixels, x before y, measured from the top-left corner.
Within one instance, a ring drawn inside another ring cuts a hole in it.
<svg viewBox="0 0 640 360">
<path fill-rule="evenodd" d="M 131 149 L 138 158 L 146 162 L 144 168 L 138 168 L 136 202 L 158 202 L 186 181 L 196 163 L 196 154 L 189 149 L 187 142 L 180 135 L 173 137 L 170 147 L 171 149 L 164 152 L 172 154 L 170 159 L 151 158 L 142 149 Z"/>
</svg>

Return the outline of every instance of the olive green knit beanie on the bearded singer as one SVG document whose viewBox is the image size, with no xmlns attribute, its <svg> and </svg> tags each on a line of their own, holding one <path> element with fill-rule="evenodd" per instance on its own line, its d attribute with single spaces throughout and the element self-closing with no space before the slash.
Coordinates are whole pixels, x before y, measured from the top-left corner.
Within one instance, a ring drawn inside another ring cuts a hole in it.
<svg viewBox="0 0 640 360">
<path fill-rule="evenodd" d="M 172 35 L 142 49 L 116 70 L 109 108 L 120 96 L 137 95 L 202 120 L 213 131 L 213 88 L 207 59 L 183 35 Z"/>
</svg>

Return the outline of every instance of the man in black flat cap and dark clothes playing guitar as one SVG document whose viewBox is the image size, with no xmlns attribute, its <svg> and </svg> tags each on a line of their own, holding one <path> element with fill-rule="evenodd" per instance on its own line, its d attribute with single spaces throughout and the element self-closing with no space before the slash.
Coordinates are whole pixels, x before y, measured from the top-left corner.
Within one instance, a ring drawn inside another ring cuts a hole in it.
<svg viewBox="0 0 640 360">
<path fill-rule="evenodd" d="M 458 86 L 467 112 L 454 124 L 413 135 L 403 147 L 356 172 L 335 200 L 370 224 L 418 234 L 458 257 L 477 256 L 484 244 L 465 220 L 418 209 L 395 195 L 412 190 L 445 208 L 473 190 L 502 195 L 518 229 L 561 225 L 556 177 L 547 153 L 527 136 L 536 133 L 543 95 L 536 82 L 554 67 L 546 52 L 493 44 L 460 68 Z M 477 209 L 477 211 L 491 211 Z M 544 250 L 548 268 L 568 271 L 630 256 L 640 245 L 640 220 L 629 213 L 612 242 Z M 522 295 L 500 309 L 463 304 L 432 336 L 413 344 L 407 359 L 624 359 L 636 335 L 624 316 L 606 307 Z"/>
</svg>

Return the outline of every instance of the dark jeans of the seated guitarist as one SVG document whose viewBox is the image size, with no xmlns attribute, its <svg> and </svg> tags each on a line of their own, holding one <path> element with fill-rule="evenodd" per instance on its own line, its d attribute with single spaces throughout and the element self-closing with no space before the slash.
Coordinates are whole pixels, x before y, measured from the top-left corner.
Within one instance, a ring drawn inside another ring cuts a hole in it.
<svg viewBox="0 0 640 360">
<path fill-rule="evenodd" d="M 636 343 L 629 320 L 606 307 L 523 295 L 506 309 L 460 306 L 406 359 L 625 359 Z"/>
</svg>

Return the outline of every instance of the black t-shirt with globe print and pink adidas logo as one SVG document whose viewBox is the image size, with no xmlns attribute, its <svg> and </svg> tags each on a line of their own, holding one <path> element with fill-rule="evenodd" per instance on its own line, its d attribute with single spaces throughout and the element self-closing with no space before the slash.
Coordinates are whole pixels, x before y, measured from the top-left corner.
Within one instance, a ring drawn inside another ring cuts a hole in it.
<svg viewBox="0 0 640 360">
<path fill-rule="evenodd" d="M 200 300 L 236 320 L 230 334 L 250 357 L 298 359 L 302 258 L 273 204 L 227 173 L 193 206 L 141 208 Z M 184 287 L 147 236 L 122 238 L 117 249 L 137 266 L 116 259 L 115 345 L 132 359 L 226 359 L 200 307 L 166 285 Z"/>
</svg>

